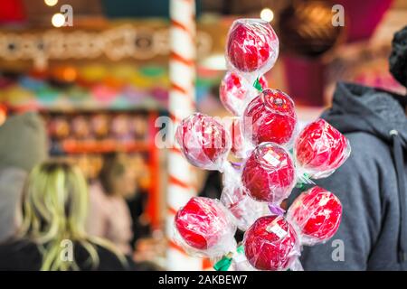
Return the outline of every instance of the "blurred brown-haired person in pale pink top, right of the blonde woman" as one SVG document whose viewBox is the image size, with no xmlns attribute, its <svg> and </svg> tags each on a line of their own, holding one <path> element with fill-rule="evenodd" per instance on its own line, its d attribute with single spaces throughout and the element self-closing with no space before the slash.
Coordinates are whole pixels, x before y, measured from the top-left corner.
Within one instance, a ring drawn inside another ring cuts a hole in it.
<svg viewBox="0 0 407 289">
<path fill-rule="evenodd" d="M 86 229 L 107 238 L 124 254 L 131 254 L 132 221 L 126 198 L 136 191 L 135 173 L 125 154 L 106 154 L 99 179 L 90 185 L 90 214 Z"/>
</svg>

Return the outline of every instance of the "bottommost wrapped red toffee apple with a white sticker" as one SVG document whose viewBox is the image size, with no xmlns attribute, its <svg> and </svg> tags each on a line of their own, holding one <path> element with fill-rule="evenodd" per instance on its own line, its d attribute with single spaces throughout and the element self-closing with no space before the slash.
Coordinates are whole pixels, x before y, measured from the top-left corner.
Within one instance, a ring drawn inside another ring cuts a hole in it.
<svg viewBox="0 0 407 289">
<path fill-rule="evenodd" d="M 257 269 L 287 270 L 299 255 L 295 229 L 282 216 L 257 219 L 244 234 L 244 253 Z"/>
</svg>

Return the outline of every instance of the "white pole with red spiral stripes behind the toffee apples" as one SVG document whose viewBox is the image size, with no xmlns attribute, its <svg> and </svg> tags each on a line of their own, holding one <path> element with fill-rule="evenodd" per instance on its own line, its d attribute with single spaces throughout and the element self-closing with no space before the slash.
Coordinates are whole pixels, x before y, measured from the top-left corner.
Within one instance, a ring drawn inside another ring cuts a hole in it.
<svg viewBox="0 0 407 289">
<path fill-rule="evenodd" d="M 170 1 L 169 113 L 175 126 L 194 112 L 195 107 L 195 1 Z M 174 141 L 174 135 L 171 135 Z M 169 239 L 166 260 L 168 270 L 201 270 L 202 260 L 185 254 L 173 241 L 176 210 L 196 194 L 194 173 L 181 151 L 175 147 L 168 154 L 168 189 L 166 231 Z"/>
</svg>

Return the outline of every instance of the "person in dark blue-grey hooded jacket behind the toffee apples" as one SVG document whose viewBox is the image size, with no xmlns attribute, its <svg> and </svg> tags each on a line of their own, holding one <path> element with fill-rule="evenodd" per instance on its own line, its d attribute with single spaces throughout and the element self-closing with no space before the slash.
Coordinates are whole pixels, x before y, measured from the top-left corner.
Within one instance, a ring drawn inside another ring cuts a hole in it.
<svg viewBox="0 0 407 289">
<path fill-rule="evenodd" d="M 403 86 L 406 60 L 407 26 L 395 34 L 390 57 L 391 72 Z M 406 107 L 405 96 L 337 84 L 322 117 L 349 139 L 352 154 L 317 185 L 336 194 L 343 216 L 326 244 L 303 248 L 305 270 L 407 270 Z"/>
</svg>

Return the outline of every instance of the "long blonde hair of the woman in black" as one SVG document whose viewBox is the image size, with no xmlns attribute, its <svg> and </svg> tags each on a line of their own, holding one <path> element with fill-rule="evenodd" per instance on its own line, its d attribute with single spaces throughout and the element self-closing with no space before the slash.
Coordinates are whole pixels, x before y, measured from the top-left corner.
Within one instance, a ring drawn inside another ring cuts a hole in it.
<svg viewBox="0 0 407 289">
<path fill-rule="evenodd" d="M 43 254 L 41 270 L 80 269 L 74 259 L 62 257 L 66 240 L 86 249 L 92 268 L 99 265 L 95 245 L 108 248 L 126 262 L 109 241 L 87 235 L 88 202 L 88 184 L 78 167 L 50 161 L 33 168 L 24 188 L 23 224 L 18 237 L 37 244 Z"/>
</svg>

